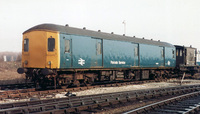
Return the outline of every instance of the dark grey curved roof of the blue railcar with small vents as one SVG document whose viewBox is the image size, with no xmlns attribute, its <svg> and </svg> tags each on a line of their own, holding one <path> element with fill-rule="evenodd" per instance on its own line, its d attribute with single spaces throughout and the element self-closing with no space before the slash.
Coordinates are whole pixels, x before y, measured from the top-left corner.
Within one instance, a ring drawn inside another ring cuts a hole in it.
<svg viewBox="0 0 200 114">
<path fill-rule="evenodd" d="M 50 31 L 58 31 L 60 33 L 89 36 L 89 37 L 94 37 L 94 38 L 128 41 L 128 42 L 142 43 L 142 44 L 149 44 L 149 45 L 158 45 L 158 46 L 164 46 L 164 47 L 174 47 L 172 44 L 169 44 L 166 42 L 153 41 L 153 40 L 147 40 L 147 39 L 141 39 L 141 38 L 129 37 L 129 36 L 122 36 L 122 35 L 116 35 L 116 34 L 109 34 L 109 33 L 103 33 L 103 32 L 97 32 L 97 31 L 92 31 L 92 30 L 79 29 L 79 28 L 55 25 L 55 24 L 40 24 L 40 25 L 34 26 L 34 27 L 26 30 L 24 33 L 27 33 L 30 31 L 36 31 L 36 30 L 50 30 Z"/>
</svg>

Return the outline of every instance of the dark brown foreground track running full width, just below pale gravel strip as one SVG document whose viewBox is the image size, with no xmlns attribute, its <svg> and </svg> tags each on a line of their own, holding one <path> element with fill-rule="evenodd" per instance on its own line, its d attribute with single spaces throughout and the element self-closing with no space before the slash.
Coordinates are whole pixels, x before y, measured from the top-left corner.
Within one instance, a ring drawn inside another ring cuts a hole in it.
<svg viewBox="0 0 200 114">
<path fill-rule="evenodd" d="M 195 92 L 200 94 L 200 85 L 136 90 L 59 99 L 0 104 L 0 113 L 82 113 L 99 112 L 105 107 L 141 100 L 157 99 L 163 96 L 179 96 Z"/>
</svg>

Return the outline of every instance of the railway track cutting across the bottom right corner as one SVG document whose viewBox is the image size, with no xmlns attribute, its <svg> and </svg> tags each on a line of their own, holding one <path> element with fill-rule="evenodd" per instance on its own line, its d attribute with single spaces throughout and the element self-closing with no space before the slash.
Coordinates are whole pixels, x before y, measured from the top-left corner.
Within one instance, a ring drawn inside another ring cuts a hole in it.
<svg viewBox="0 0 200 114">
<path fill-rule="evenodd" d="M 200 113 L 200 91 L 152 103 L 124 114 L 195 114 Z"/>
</svg>

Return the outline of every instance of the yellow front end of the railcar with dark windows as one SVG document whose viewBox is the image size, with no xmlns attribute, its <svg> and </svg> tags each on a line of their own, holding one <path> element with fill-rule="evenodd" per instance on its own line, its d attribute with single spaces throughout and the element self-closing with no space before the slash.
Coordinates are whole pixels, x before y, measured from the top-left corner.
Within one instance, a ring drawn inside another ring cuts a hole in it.
<svg viewBox="0 0 200 114">
<path fill-rule="evenodd" d="M 59 68 L 59 33 L 31 31 L 23 35 L 22 65 L 26 68 Z"/>
</svg>

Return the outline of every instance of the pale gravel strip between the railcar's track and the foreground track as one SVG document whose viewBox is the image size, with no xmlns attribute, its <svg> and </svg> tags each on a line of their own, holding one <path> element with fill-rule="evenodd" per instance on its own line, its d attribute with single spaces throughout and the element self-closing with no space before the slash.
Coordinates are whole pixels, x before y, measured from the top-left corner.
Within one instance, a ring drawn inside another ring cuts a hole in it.
<svg viewBox="0 0 200 114">
<path fill-rule="evenodd" d="M 184 80 L 182 85 L 193 85 L 193 84 L 200 84 L 200 80 Z M 72 94 L 76 94 L 76 96 L 83 96 L 83 95 L 94 95 L 94 94 L 103 94 L 103 93 L 113 93 L 113 92 L 122 92 L 122 91 L 131 91 L 131 90 L 138 90 L 138 89 L 150 89 L 150 88 L 164 88 L 164 87 L 174 87 L 180 86 L 180 80 L 169 80 L 168 82 L 159 82 L 159 83 L 146 83 L 140 85 L 127 85 L 121 87 L 103 87 L 103 88 L 94 88 L 79 92 L 72 92 Z M 0 103 L 11 103 L 11 102 L 21 102 L 21 101 L 30 101 L 30 100 L 39 100 L 39 99 L 48 99 L 48 98 L 64 98 L 66 92 L 47 95 L 42 97 L 34 96 L 28 99 L 4 99 L 1 100 Z"/>
</svg>

